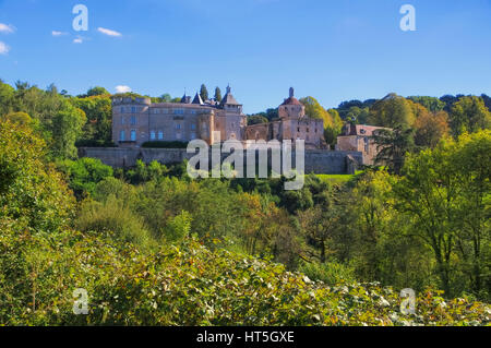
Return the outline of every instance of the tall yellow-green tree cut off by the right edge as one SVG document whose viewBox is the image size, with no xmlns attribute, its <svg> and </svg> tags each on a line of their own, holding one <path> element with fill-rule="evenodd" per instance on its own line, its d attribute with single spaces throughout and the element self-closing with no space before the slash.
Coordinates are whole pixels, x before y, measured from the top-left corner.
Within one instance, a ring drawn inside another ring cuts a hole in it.
<svg viewBox="0 0 491 348">
<path fill-rule="evenodd" d="M 450 153 L 452 173 L 459 187 L 457 218 L 462 224 L 457 252 L 470 288 L 481 298 L 491 295 L 491 131 L 464 134 Z"/>
</svg>

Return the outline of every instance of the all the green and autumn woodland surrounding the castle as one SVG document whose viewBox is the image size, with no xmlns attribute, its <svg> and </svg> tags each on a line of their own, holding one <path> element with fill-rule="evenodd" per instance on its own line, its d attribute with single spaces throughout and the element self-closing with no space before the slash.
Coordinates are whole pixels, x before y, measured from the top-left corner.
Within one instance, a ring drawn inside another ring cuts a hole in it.
<svg viewBox="0 0 491 348">
<path fill-rule="evenodd" d="M 104 87 L 0 81 L 0 325 L 489 325 L 491 99 L 300 101 L 331 146 L 346 123 L 390 128 L 380 164 L 299 191 L 115 169 L 77 156 L 113 146 Z"/>
</svg>

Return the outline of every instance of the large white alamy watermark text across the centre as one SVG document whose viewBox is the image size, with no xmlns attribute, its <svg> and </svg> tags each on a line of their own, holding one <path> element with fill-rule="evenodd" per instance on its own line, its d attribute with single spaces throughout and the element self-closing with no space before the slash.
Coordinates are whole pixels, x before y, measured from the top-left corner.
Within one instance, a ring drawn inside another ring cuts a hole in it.
<svg viewBox="0 0 491 348">
<path fill-rule="evenodd" d="M 214 132 L 215 143 L 211 146 L 211 151 L 208 144 L 203 140 L 189 142 L 188 154 L 194 154 L 197 149 L 197 154 L 188 163 L 187 170 L 191 178 L 209 178 L 209 166 L 212 178 L 220 178 L 221 176 L 225 178 L 267 178 L 268 154 L 271 152 L 271 178 L 280 178 L 283 175 L 286 179 L 294 179 L 285 182 L 285 190 L 301 190 L 303 188 L 306 167 L 303 140 L 295 142 L 296 167 L 294 169 L 294 152 L 289 140 L 283 141 L 283 143 L 277 140 L 267 143 L 265 141 L 247 141 L 244 148 L 243 143 L 237 140 L 220 143 L 219 134 L 220 132 Z M 212 158 L 209 158 L 209 153 Z M 230 155 L 221 161 L 223 154 Z"/>
</svg>

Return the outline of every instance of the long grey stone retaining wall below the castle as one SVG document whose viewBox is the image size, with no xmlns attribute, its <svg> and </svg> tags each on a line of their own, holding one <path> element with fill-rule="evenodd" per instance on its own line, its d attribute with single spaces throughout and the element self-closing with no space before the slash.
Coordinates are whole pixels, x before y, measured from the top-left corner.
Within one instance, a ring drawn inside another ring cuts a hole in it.
<svg viewBox="0 0 491 348">
<path fill-rule="evenodd" d="M 295 151 L 294 163 L 295 163 Z M 100 159 L 111 167 L 131 167 L 137 159 L 149 164 L 157 160 L 169 165 L 190 159 L 194 154 L 188 154 L 185 148 L 130 148 L 130 147 L 81 147 L 81 157 L 93 157 Z M 223 154 L 223 158 L 228 154 Z M 209 156 L 211 158 L 211 156 Z M 244 155 L 244 160 L 247 156 Z M 360 152 L 306 149 L 306 172 L 314 173 L 354 173 L 354 161 L 362 164 Z M 295 167 L 295 166 L 294 166 Z"/>
</svg>

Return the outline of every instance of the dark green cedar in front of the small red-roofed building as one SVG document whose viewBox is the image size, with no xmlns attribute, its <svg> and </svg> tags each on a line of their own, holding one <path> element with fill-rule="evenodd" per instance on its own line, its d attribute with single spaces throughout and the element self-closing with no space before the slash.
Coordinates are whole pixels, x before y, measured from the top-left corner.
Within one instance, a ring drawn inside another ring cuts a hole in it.
<svg viewBox="0 0 491 348">
<path fill-rule="evenodd" d="M 388 170 L 400 173 L 406 153 L 412 148 L 412 129 L 397 127 L 394 130 L 382 129 L 373 135 L 378 154 L 375 164 L 388 166 Z"/>
</svg>

